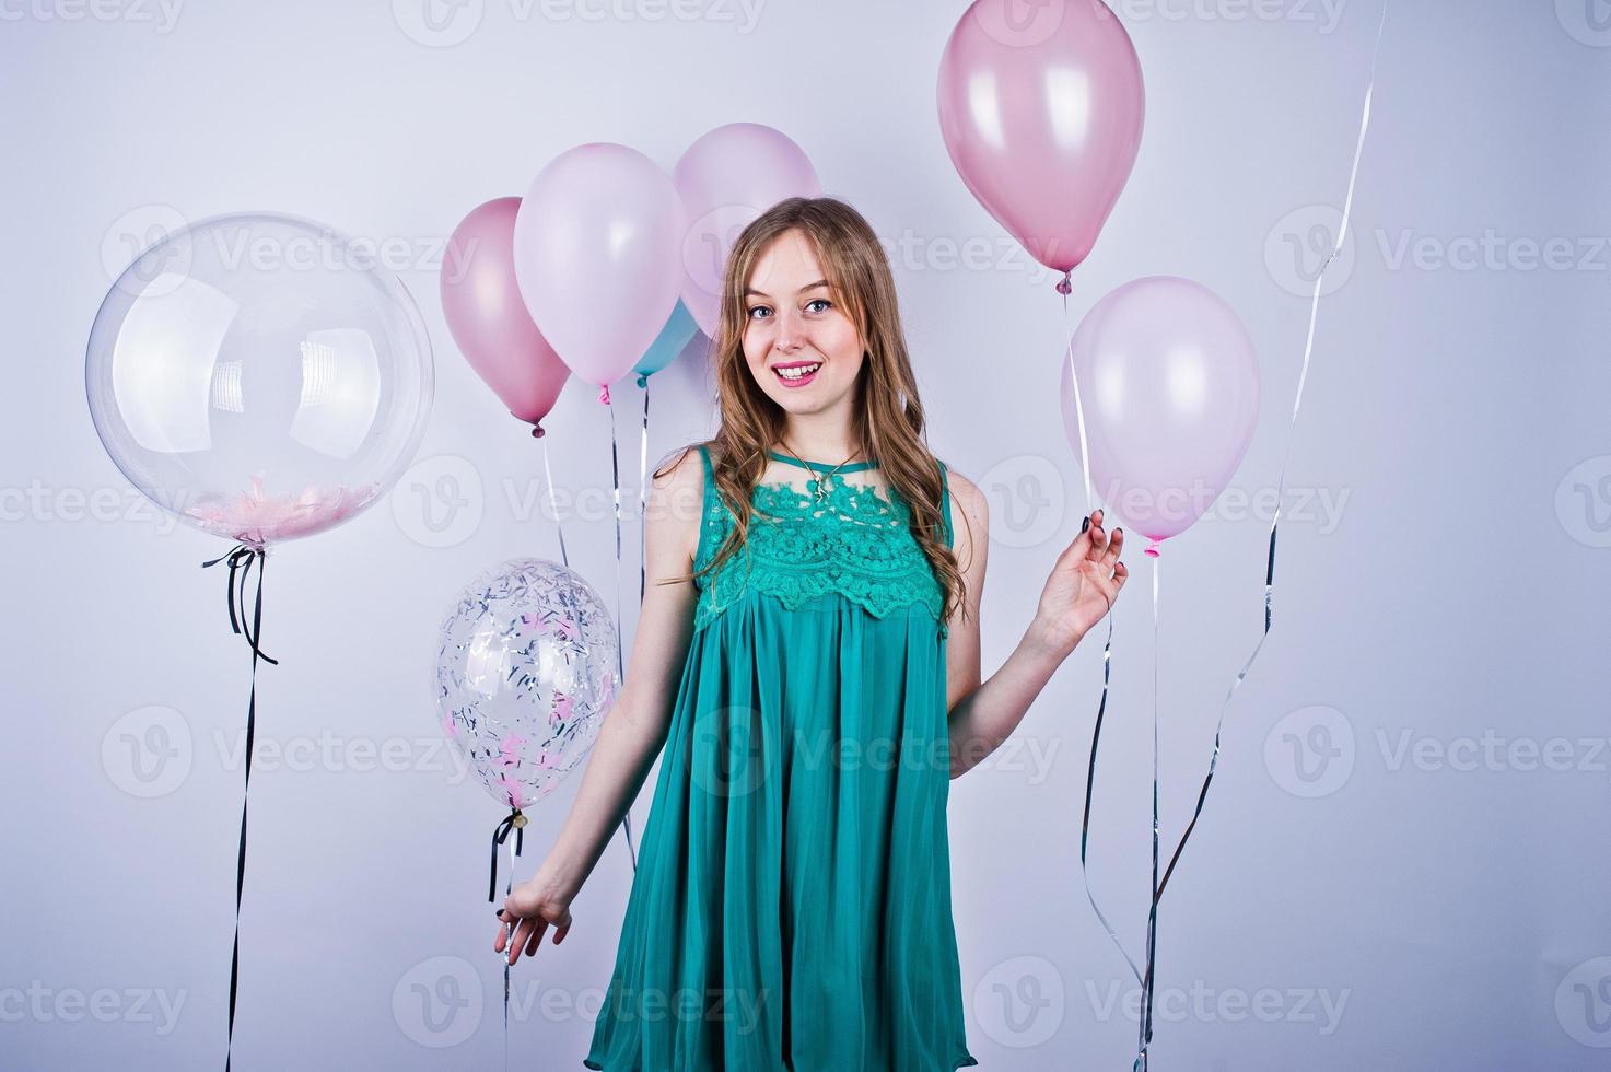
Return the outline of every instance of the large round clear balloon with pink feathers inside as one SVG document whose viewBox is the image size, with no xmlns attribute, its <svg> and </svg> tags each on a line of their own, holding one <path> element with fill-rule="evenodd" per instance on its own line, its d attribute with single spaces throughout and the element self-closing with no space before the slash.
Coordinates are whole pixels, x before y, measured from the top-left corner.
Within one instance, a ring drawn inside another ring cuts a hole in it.
<svg viewBox="0 0 1611 1072">
<path fill-rule="evenodd" d="M 396 482 L 430 413 L 430 339 L 372 247 L 293 216 L 219 216 L 118 277 L 85 388 L 142 493 L 263 546 L 340 524 Z"/>
</svg>

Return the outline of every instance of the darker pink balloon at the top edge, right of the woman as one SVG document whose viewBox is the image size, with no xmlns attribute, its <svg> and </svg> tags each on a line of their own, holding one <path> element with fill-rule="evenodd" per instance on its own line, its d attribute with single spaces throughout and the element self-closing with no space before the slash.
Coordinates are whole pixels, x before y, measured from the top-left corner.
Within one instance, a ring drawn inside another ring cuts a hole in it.
<svg viewBox="0 0 1611 1072">
<path fill-rule="evenodd" d="M 939 61 L 950 161 L 989 214 L 1062 272 L 1113 211 L 1144 111 L 1136 47 L 1100 0 L 975 0 Z"/>
</svg>

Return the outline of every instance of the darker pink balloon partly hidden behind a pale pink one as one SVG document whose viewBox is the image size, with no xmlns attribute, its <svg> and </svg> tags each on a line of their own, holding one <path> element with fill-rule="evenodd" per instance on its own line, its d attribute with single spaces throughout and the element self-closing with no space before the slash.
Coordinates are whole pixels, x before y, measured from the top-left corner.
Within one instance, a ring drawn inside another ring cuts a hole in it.
<svg viewBox="0 0 1611 1072">
<path fill-rule="evenodd" d="M 570 369 L 536 330 L 514 276 L 514 221 L 520 198 L 477 206 L 453 231 L 441 264 L 441 311 L 453 342 L 509 413 L 541 435 Z"/>
</svg>

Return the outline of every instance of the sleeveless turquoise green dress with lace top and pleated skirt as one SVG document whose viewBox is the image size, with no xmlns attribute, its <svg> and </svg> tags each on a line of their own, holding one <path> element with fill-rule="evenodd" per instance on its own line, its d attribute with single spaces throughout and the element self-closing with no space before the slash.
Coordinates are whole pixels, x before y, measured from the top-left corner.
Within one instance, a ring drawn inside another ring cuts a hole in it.
<svg viewBox="0 0 1611 1072">
<path fill-rule="evenodd" d="M 694 567 L 733 516 L 704 461 Z M 831 466 L 773 459 L 814 472 Z M 942 592 L 854 463 L 754 492 L 694 632 L 609 991 L 603 1072 L 952 1072 Z M 950 490 L 941 517 L 950 546 Z"/>
</svg>

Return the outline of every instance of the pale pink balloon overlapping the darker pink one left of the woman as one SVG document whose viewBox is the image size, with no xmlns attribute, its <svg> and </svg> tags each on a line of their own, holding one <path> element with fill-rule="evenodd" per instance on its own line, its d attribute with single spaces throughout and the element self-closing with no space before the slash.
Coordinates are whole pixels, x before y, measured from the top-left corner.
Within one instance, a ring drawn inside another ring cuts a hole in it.
<svg viewBox="0 0 1611 1072">
<path fill-rule="evenodd" d="M 588 384 L 619 380 L 649 348 L 681 287 L 683 205 L 635 148 L 578 145 L 532 181 L 514 221 L 520 295 Z"/>
</svg>

